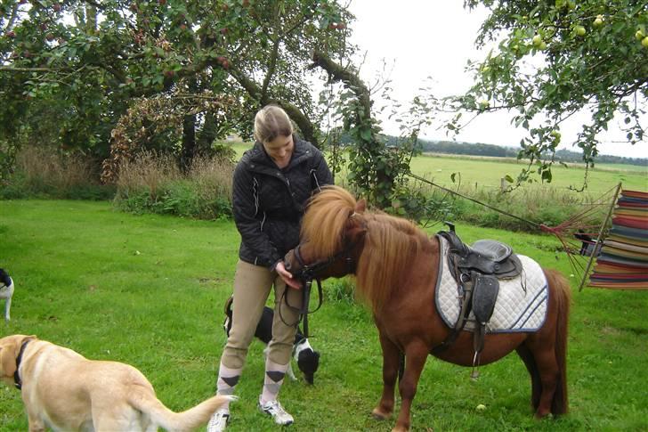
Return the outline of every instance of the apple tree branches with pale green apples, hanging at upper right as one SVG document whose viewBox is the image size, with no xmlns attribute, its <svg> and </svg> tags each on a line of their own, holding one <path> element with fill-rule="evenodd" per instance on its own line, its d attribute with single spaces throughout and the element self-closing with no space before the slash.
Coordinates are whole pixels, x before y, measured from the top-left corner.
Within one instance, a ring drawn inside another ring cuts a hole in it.
<svg viewBox="0 0 648 432">
<path fill-rule="evenodd" d="M 535 171 L 551 181 L 560 127 L 588 112 L 573 145 L 593 167 L 597 145 L 610 122 L 620 118 L 628 143 L 644 145 L 642 118 L 648 99 L 648 5 L 644 0 L 466 0 L 465 7 L 490 12 L 476 44 L 497 43 L 473 62 L 474 86 L 448 101 L 479 115 L 512 110 L 514 126 L 528 131 L 519 159 L 528 159 L 516 181 Z M 458 114 L 450 130 L 464 126 Z M 587 183 L 586 183 L 587 185 Z"/>
</svg>

